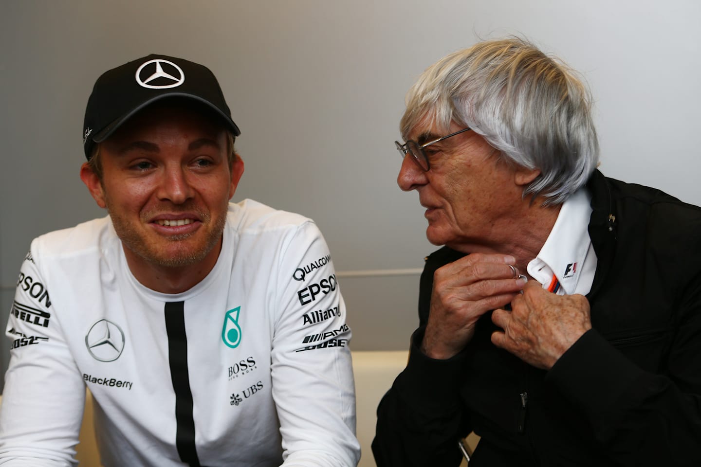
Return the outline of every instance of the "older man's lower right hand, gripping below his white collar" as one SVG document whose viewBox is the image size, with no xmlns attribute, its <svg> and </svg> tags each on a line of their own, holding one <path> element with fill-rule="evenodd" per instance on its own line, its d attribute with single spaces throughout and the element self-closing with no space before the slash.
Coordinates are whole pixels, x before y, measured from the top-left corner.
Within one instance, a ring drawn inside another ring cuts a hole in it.
<svg viewBox="0 0 701 467">
<path fill-rule="evenodd" d="M 511 312 L 495 309 L 491 321 L 503 329 L 491 335 L 491 342 L 545 370 L 592 328 L 584 295 L 555 295 L 538 281 L 526 284 L 523 295 L 511 302 Z"/>
</svg>

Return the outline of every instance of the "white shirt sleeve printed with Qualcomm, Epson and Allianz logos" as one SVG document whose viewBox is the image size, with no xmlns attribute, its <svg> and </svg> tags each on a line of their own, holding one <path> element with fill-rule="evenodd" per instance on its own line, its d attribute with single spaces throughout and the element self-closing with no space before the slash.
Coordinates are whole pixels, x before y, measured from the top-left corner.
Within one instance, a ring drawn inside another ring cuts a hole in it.
<svg viewBox="0 0 701 467">
<path fill-rule="evenodd" d="M 271 373 L 283 466 L 356 466 L 351 330 L 328 246 L 313 222 L 285 242 L 275 280 Z"/>
</svg>

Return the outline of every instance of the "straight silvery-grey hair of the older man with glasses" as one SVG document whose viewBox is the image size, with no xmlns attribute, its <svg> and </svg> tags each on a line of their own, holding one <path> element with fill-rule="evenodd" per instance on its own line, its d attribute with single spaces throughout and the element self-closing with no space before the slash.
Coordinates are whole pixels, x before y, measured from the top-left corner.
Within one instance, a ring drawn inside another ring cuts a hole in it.
<svg viewBox="0 0 701 467">
<path fill-rule="evenodd" d="M 524 190 L 559 204 L 599 162 L 587 86 L 566 64 L 523 39 L 484 41 L 426 69 L 407 93 L 404 139 L 428 119 L 470 127 L 503 160 L 540 170 Z"/>
</svg>

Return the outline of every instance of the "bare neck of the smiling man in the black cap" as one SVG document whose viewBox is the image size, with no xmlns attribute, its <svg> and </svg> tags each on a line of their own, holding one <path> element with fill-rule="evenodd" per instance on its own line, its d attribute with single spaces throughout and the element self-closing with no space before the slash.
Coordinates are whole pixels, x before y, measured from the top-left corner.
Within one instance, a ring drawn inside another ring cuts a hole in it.
<svg viewBox="0 0 701 467">
<path fill-rule="evenodd" d="M 203 260 L 182 266 L 149 263 L 125 246 L 123 251 L 129 270 L 143 286 L 161 293 L 182 293 L 199 284 L 215 267 L 222 241 L 219 240 Z"/>
</svg>

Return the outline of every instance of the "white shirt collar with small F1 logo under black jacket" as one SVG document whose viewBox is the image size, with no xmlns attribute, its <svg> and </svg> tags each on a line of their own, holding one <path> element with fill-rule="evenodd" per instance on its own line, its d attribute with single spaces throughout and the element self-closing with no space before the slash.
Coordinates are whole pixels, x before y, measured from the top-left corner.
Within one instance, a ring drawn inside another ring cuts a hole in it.
<svg viewBox="0 0 701 467">
<path fill-rule="evenodd" d="M 597 255 L 588 230 L 591 216 L 591 195 L 586 188 L 580 188 L 562 204 L 543 248 L 526 267 L 543 288 L 550 286 L 554 275 L 560 283 L 559 295 L 589 293 L 597 270 Z"/>
</svg>

